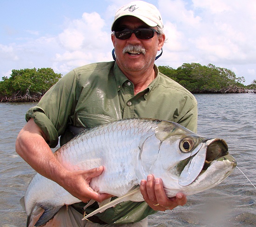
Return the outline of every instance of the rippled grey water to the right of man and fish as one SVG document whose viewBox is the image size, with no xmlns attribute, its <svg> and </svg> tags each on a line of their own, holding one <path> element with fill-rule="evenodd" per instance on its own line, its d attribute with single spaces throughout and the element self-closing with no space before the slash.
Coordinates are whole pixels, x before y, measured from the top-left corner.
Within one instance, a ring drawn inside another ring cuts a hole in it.
<svg viewBox="0 0 256 227">
<path fill-rule="evenodd" d="M 256 94 L 195 97 L 198 134 L 226 140 L 237 167 L 256 185 Z M 149 226 L 256 226 L 256 189 L 236 168 L 219 186 L 188 196 L 184 207 L 165 213 L 149 217 Z"/>
</svg>

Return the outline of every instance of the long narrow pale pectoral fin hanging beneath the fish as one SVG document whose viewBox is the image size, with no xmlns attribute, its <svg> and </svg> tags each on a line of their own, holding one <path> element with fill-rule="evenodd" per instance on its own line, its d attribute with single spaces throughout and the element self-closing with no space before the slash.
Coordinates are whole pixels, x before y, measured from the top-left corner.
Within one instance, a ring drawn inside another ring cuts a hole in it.
<svg viewBox="0 0 256 227">
<path fill-rule="evenodd" d="M 102 207 L 94 210 L 92 213 L 86 215 L 82 220 L 86 220 L 88 217 L 93 216 L 94 214 L 100 213 L 105 211 L 106 209 L 108 209 L 109 207 L 114 207 L 116 204 L 123 202 L 123 201 L 128 201 L 130 200 L 133 195 L 140 193 L 140 186 L 136 186 L 134 189 L 132 189 L 131 191 L 129 191 L 127 194 L 116 198 L 115 200 L 108 202 L 107 204 L 103 205 Z"/>
</svg>

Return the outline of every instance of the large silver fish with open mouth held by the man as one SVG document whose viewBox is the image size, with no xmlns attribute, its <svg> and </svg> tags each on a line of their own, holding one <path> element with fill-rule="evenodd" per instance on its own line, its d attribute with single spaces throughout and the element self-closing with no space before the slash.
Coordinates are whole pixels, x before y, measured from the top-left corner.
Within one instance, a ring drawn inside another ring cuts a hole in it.
<svg viewBox="0 0 256 227">
<path fill-rule="evenodd" d="M 85 130 L 55 152 L 57 160 L 70 171 L 104 166 L 103 173 L 91 180 L 90 187 L 119 197 L 139 185 L 148 174 L 162 179 L 168 197 L 177 192 L 189 195 L 215 187 L 236 166 L 235 159 L 227 154 L 224 140 L 206 139 L 177 123 L 151 119 L 119 120 Z M 226 160 L 218 160 L 221 156 Z M 212 165 L 200 174 L 206 157 Z M 137 193 L 127 200 L 143 198 Z M 40 174 L 31 180 L 24 197 L 28 220 L 34 207 L 46 210 L 36 226 L 51 219 L 63 205 L 79 201 Z"/>
</svg>

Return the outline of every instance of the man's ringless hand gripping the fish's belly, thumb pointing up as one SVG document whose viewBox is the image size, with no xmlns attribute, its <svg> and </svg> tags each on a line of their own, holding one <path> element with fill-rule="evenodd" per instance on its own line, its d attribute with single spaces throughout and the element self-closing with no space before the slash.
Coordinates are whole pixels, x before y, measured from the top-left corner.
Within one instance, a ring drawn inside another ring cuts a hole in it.
<svg viewBox="0 0 256 227">
<path fill-rule="evenodd" d="M 103 200 L 112 197 L 112 195 L 95 192 L 89 186 L 89 183 L 93 177 L 99 176 L 103 169 L 104 168 L 100 166 L 98 168 L 85 171 L 79 170 L 75 172 L 68 172 L 65 180 L 63 180 L 63 183 L 61 183 L 61 186 L 64 187 L 70 194 L 74 195 L 74 197 L 82 200 L 83 202 L 88 202 L 91 199 L 97 202 L 102 202 Z"/>
</svg>

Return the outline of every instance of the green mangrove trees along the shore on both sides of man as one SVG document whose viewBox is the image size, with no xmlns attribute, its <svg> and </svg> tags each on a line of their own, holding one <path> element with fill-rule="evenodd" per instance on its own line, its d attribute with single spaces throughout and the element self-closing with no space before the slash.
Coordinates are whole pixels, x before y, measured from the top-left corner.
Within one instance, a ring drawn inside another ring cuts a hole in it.
<svg viewBox="0 0 256 227">
<path fill-rule="evenodd" d="M 184 63 L 177 69 L 158 68 L 191 93 L 256 93 L 256 80 L 245 86 L 244 77 L 236 78 L 231 70 L 212 64 Z M 0 102 L 38 102 L 61 76 L 52 68 L 13 69 L 9 78 L 2 77 L 0 81 Z"/>
</svg>

